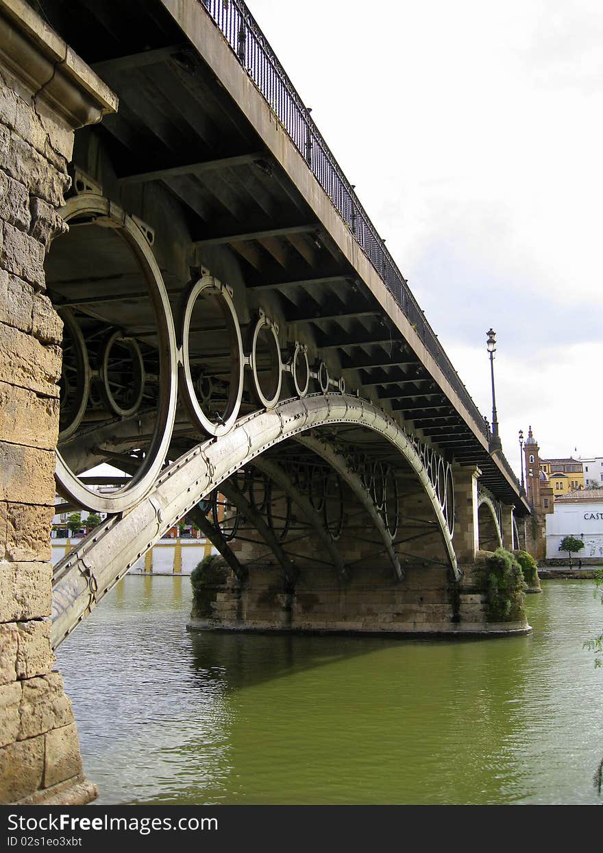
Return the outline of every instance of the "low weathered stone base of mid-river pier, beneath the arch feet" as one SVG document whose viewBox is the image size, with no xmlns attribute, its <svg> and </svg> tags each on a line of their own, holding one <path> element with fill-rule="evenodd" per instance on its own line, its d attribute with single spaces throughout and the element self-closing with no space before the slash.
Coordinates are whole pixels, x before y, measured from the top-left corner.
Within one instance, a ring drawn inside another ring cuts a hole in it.
<svg viewBox="0 0 603 853">
<path fill-rule="evenodd" d="M 305 568 L 295 591 L 286 591 L 275 566 L 251 566 L 244 584 L 225 570 L 223 582 L 205 589 L 203 606 L 193 603 L 189 627 L 458 635 L 529 630 L 525 618 L 488 621 L 480 577 L 486 555 L 478 552 L 461 583 L 444 566 L 407 566 L 401 583 L 391 571 L 370 567 L 356 568 L 347 582 L 324 568 Z"/>
</svg>

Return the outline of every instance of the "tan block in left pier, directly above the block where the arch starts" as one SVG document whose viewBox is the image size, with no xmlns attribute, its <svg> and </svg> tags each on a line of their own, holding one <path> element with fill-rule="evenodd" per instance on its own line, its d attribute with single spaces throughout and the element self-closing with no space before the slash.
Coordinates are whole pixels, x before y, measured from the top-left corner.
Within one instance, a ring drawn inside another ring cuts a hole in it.
<svg viewBox="0 0 603 853">
<path fill-rule="evenodd" d="M 55 509 L 0 502 L 0 560 L 50 560 L 50 527 Z"/>
</svg>

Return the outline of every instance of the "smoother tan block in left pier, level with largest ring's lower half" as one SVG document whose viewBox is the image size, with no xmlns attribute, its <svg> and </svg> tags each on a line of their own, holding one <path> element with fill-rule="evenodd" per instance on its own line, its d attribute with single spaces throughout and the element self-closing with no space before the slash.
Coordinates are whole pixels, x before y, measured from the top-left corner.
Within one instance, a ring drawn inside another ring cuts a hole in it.
<svg viewBox="0 0 603 853">
<path fill-rule="evenodd" d="M 0 441 L 55 450 L 59 401 L 0 382 Z"/>
</svg>

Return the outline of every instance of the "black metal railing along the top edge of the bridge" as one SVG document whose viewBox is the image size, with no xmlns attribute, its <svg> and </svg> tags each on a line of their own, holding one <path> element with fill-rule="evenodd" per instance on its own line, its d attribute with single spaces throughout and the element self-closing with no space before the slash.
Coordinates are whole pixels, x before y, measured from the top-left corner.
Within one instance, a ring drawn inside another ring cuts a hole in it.
<svg viewBox="0 0 603 853">
<path fill-rule="evenodd" d="M 490 430 L 480 410 L 452 366 L 451 360 L 439 343 L 438 336 L 412 295 L 405 277 L 385 247 L 382 238 L 377 234 L 352 185 L 343 174 L 329 146 L 324 142 L 323 136 L 310 116 L 310 111 L 304 106 L 302 98 L 284 72 L 284 68 L 250 10 L 243 0 L 198 0 L 198 2 L 210 13 L 233 52 L 238 56 L 238 60 L 273 109 L 291 141 L 306 160 L 308 167 L 313 171 L 320 186 L 329 195 L 359 247 L 375 267 L 388 291 L 393 295 L 393 299 L 411 322 L 416 334 L 457 392 L 465 408 L 474 416 L 484 438 L 488 440 Z M 501 461 L 503 458 L 501 457 Z M 506 459 L 504 462 L 505 469 L 515 481 L 516 475 Z"/>
</svg>

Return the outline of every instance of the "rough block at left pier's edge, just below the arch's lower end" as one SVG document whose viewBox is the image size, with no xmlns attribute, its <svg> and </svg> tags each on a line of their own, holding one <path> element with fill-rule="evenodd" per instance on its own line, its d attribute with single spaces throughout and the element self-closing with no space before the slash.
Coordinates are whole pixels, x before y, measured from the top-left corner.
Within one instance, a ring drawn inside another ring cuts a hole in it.
<svg viewBox="0 0 603 853">
<path fill-rule="evenodd" d="M 63 679 L 58 672 L 18 683 L 22 685 L 22 695 L 17 740 L 26 740 L 74 722 L 72 704 L 65 695 Z"/>
</svg>

